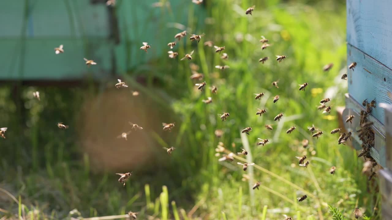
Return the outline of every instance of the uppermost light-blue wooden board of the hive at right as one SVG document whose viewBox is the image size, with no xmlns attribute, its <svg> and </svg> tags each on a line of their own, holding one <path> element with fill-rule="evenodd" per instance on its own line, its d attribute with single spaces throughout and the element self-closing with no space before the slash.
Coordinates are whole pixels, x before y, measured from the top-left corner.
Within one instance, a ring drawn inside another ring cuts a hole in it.
<svg viewBox="0 0 392 220">
<path fill-rule="evenodd" d="M 347 0 L 347 42 L 392 69 L 390 0 Z"/>
</svg>

